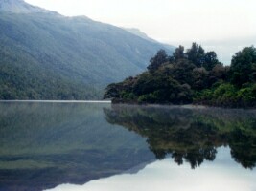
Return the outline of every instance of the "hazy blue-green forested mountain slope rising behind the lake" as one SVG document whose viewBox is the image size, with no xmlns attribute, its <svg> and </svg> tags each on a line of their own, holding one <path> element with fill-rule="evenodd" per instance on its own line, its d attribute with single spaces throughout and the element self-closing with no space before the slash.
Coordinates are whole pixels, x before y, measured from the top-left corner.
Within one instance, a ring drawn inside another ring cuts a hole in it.
<svg viewBox="0 0 256 191">
<path fill-rule="evenodd" d="M 100 98 L 164 45 L 85 16 L 0 1 L 0 99 Z M 173 51 L 173 50 L 167 50 Z"/>
</svg>

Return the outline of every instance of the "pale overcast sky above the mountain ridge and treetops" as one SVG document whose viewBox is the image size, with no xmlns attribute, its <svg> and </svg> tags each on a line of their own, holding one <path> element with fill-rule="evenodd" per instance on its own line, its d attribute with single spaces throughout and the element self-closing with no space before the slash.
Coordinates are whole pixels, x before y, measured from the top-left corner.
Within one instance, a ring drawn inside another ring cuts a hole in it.
<svg viewBox="0 0 256 191">
<path fill-rule="evenodd" d="M 247 45 L 241 39 L 256 36 L 256 0 L 25 1 L 67 16 L 86 15 L 115 26 L 138 28 L 158 41 L 173 45 L 197 41 L 211 47 L 216 45 L 207 42 L 240 39 L 233 43 L 234 51 Z"/>
</svg>

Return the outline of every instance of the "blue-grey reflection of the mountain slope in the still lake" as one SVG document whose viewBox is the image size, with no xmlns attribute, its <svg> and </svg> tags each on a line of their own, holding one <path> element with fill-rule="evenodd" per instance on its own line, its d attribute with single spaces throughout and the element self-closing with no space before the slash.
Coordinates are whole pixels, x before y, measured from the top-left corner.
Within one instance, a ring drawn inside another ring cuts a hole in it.
<svg viewBox="0 0 256 191">
<path fill-rule="evenodd" d="M 0 103 L 0 190 L 83 184 L 151 162 L 144 138 L 105 121 L 109 106 Z"/>
</svg>

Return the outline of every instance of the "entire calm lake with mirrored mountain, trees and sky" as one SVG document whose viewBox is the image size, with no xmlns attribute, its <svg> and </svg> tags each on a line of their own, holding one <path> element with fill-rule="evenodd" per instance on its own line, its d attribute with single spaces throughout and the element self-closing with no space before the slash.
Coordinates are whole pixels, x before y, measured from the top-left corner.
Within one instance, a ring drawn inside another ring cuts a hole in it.
<svg viewBox="0 0 256 191">
<path fill-rule="evenodd" d="M 256 191 L 256 111 L 0 102 L 0 190 Z"/>
</svg>

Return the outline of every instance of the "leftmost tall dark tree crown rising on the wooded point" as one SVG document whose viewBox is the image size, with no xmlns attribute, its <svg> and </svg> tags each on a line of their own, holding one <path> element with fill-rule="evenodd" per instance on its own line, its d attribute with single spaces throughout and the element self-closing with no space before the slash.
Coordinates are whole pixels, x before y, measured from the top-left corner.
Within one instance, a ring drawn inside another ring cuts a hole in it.
<svg viewBox="0 0 256 191">
<path fill-rule="evenodd" d="M 159 50 L 154 57 L 150 60 L 150 65 L 148 66 L 148 70 L 153 73 L 156 71 L 162 64 L 168 62 L 169 57 L 165 50 Z"/>
</svg>

